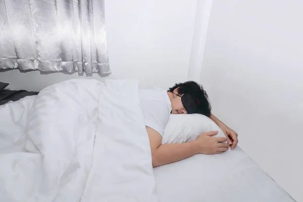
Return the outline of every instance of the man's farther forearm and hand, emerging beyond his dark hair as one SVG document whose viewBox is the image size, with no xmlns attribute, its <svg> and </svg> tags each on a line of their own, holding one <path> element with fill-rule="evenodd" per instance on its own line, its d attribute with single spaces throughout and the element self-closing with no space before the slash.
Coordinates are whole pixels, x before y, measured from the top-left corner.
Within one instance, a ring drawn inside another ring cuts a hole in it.
<svg viewBox="0 0 303 202">
<path fill-rule="evenodd" d="M 234 149 L 238 143 L 238 134 L 215 117 L 215 115 L 211 114 L 210 119 L 221 128 L 227 138 L 227 142 L 231 145 L 231 149 Z"/>
</svg>

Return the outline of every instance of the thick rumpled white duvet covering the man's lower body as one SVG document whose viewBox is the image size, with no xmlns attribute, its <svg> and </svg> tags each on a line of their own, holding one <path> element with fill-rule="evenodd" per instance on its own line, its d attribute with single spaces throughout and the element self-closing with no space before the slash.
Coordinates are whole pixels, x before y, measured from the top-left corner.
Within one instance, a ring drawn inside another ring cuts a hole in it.
<svg viewBox="0 0 303 202">
<path fill-rule="evenodd" d="M 158 201 L 136 80 L 30 98 L 0 107 L 0 201 Z"/>
</svg>

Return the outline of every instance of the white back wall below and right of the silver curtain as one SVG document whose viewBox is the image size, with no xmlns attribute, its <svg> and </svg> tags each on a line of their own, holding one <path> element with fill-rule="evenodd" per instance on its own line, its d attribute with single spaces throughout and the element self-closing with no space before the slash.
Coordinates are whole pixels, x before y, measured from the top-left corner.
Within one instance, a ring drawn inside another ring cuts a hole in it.
<svg viewBox="0 0 303 202">
<path fill-rule="evenodd" d="M 167 88 L 188 73 L 196 0 L 106 0 L 107 41 L 112 75 L 140 79 L 142 87 Z M 78 74 L 0 72 L 11 89 L 40 90 Z M 87 78 L 85 75 L 82 78 Z M 92 77 L 102 80 L 98 75 Z"/>
</svg>

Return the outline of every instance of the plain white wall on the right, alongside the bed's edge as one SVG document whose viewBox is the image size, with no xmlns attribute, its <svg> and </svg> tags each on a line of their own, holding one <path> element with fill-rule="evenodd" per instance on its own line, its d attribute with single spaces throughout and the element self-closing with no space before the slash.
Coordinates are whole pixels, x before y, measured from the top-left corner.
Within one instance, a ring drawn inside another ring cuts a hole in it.
<svg viewBox="0 0 303 202">
<path fill-rule="evenodd" d="M 213 1 L 201 73 L 213 113 L 297 201 L 303 201 L 302 10 L 299 0 Z"/>
</svg>

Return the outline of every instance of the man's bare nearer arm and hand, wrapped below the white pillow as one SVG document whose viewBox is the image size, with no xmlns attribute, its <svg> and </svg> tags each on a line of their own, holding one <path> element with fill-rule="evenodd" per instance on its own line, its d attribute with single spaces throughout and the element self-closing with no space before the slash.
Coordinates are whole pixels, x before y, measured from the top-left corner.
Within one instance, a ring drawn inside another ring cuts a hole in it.
<svg viewBox="0 0 303 202">
<path fill-rule="evenodd" d="M 154 129 L 146 126 L 149 137 L 153 167 L 177 162 L 195 154 L 219 154 L 228 149 L 224 137 L 211 137 L 218 131 L 201 134 L 196 140 L 185 143 L 161 144 L 162 137 Z"/>
</svg>

